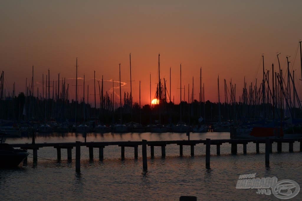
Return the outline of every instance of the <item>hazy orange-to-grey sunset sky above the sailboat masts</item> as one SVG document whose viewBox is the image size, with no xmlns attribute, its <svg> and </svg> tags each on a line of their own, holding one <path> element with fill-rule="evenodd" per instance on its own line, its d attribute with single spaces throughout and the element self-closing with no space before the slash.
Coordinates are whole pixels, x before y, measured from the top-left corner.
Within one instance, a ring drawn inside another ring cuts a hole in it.
<svg viewBox="0 0 302 201">
<path fill-rule="evenodd" d="M 142 105 L 150 101 L 160 77 L 167 80 L 172 73 L 172 99 L 180 100 L 180 64 L 182 87 L 188 100 L 188 84 L 194 99 L 199 100 L 199 73 L 205 99 L 224 101 L 223 80 L 236 83 L 237 101 L 246 76 L 248 85 L 262 80 L 262 53 L 265 69 L 278 68 L 276 52 L 281 52 L 281 68 L 296 70 L 297 89 L 301 92 L 300 49 L 302 39 L 302 1 L 1 1 L 0 2 L 0 71 L 5 72 L 5 89 L 17 93 L 25 90 L 34 65 L 35 94 L 42 93 L 48 68 L 50 79 L 65 77 L 69 93 L 75 96 L 76 57 L 78 77 L 85 74 L 85 91 L 89 84 L 92 103 L 93 75 L 121 82 L 130 92 L 129 54 L 132 61 L 133 101 L 139 99 L 141 80 Z M 295 56 L 297 57 L 295 58 Z M 259 68 L 260 66 L 260 68 Z M 79 99 L 83 83 L 79 80 Z M 98 94 L 98 83 L 97 94 Z M 115 83 L 117 92 L 119 83 Z M 45 87 L 45 86 L 44 86 Z M 112 82 L 104 82 L 104 91 L 112 93 Z M 183 92 L 182 92 L 183 93 Z M 119 91 L 118 91 L 119 95 Z M 87 96 L 87 92 L 85 92 Z M 183 95 L 182 95 L 183 96 Z M 97 96 L 98 97 L 98 96 Z M 118 96 L 116 96 L 118 97 Z M 85 97 L 86 99 L 86 97 Z M 119 102 L 119 100 L 116 100 Z"/>
</svg>

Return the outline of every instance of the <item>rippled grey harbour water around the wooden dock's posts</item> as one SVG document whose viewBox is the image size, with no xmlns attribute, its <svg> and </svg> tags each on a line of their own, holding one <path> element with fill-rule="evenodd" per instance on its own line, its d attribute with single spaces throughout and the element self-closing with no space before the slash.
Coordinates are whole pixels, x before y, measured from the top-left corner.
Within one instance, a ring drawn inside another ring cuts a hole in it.
<svg viewBox="0 0 302 201">
<path fill-rule="evenodd" d="M 191 140 L 229 139 L 230 133 L 192 133 Z M 185 133 L 124 133 L 87 134 L 87 142 L 185 140 Z M 36 143 L 84 141 L 82 134 L 39 134 Z M 31 143 L 31 138 L 9 138 L 7 143 Z M 265 145 L 260 144 L 256 154 L 254 143 L 247 145 L 248 154 L 238 145 L 238 154 L 231 155 L 230 144 L 211 146 L 211 168 L 205 168 L 205 145 L 195 146 L 191 157 L 190 146 L 167 145 L 166 157 L 161 147 L 154 147 L 154 159 L 147 147 L 148 171 L 142 168 L 142 151 L 134 159 L 134 149 L 125 147 L 125 159 L 120 158 L 120 147 L 106 146 L 104 160 L 89 160 L 88 148 L 81 147 L 81 174 L 75 172 L 75 160 L 67 161 L 67 150 L 61 150 L 61 161 L 56 160 L 56 149 L 38 150 L 38 162 L 28 158 L 18 168 L 0 169 L 0 200 L 179 200 L 180 196 L 197 196 L 198 200 L 278 200 L 274 195 L 256 194 L 256 189 L 236 189 L 240 174 L 257 173 L 256 177 L 291 179 L 302 187 L 302 153 L 294 143 L 294 153 L 288 153 L 288 143 L 282 144 L 282 153 L 273 144 L 270 166 L 265 167 Z M 29 150 L 32 153 L 32 150 Z M 29 155 L 31 156 L 31 155 Z M 44 159 L 42 159 L 42 158 Z M 75 149 L 72 150 L 75 158 Z M 45 160 L 50 159 L 50 160 Z M 302 200 L 302 192 L 290 200 Z"/>
</svg>

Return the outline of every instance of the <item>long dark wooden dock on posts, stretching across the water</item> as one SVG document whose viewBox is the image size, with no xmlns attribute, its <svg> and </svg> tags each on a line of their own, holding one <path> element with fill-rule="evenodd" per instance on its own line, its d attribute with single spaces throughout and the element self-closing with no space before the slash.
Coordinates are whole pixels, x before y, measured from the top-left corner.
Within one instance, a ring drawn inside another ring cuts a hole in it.
<svg viewBox="0 0 302 201">
<path fill-rule="evenodd" d="M 224 143 L 231 144 L 231 154 L 237 153 L 237 145 L 243 144 L 243 153 L 246 154 L 246 145 L 248 143 L 256 144 L 256 153 L 259 153 L 259 144 L 265 144 L 265 164 L 269 164 L 269 153 L 272 152 L 272 143 L 277 143 L 277 151 L 282 152 L 282 143 L 289 143 L 289 152 L 293 152 L 294 142 L 300 142 L 300 151 L 302 151 L 302 138 L 278 138 L 278 139 L 225 139 L 225 140 L 165 140 L 165 141 L 123 141 L 123 142 L 75 142 L 75 143 L 25 143 L 25 144 L 11 144 L 12 147 L 20 147 L 21 149 L 33 150 L 33 160 L 37 161 L 37 150 L 43 147 L 53 147 L 57 150 L 57 159 L 61 160 L 61 149 L 67 149 L 67 159 L 72 159 L 72 149 L 76 147 L 76 171 L 80 171 L 80 148 L 86 146 L 89 149 L 89 158 L 93 159 L 93 148 L 99 149 L 99 158 L 104 158 L 104 148 L 106 146 L 120 146 L 121 158 L 125 157 L 125 147 L 134 148 L 134 157 L 138 158 L 138 146 L 142 146 L 143 156 L 143 169 L 147 169 L 147 146 L 150 146 L 151 158 L 154 157 L 154 146 L 160 146 L 162 151 L 162 157 L 165 157 L 165 147 L 170 144 L 176 144 L 179 146 L 179 155 L 183 154 L 183 146 L 191 147 L 191 155 L 194 155 L 194 147 L 197 144 L 206 145 L 206 168 L 210 168 L 210 146 L 216 145 L 217 155 L 220 155 L 220 145 Z"/>
</svg>

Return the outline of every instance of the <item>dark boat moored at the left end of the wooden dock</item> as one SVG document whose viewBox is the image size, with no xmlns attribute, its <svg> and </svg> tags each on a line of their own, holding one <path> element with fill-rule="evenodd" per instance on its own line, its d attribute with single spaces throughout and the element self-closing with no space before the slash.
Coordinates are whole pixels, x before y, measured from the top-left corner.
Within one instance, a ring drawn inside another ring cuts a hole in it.
<svg viewBox="0 0 302 201">
<path fill-rule="evenodd" d="M 24 149 L 14 149 L 7 143 L 0 143 L 0 167 L 16 167 L 27 156 L 28 152 Z"/>
</svg>

